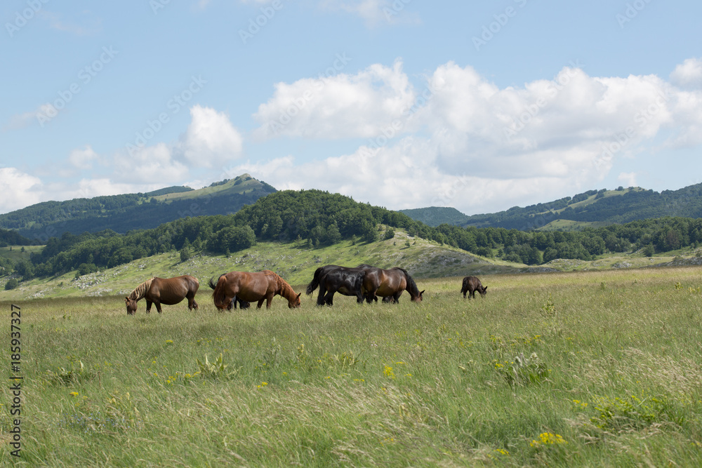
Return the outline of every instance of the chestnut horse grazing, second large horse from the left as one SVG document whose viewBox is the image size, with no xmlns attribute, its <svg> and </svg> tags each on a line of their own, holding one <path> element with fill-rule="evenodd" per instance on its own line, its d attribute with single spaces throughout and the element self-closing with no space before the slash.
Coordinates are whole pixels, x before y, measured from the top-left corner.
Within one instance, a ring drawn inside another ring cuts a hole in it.
<svg viewBox="0 0 702 468">
<path fill-rule="evenodd" d="M 220 310 L 227 309 L 236 297 L 246 302 L 258 301 L 258 308 L 266 301 L 265 307 L 270 308 L 274 295 L 281 295 L 288 300 L 288 307 L 300 307 L 300 294 L 280 276 L 268 269 L 259 273 L 229 272 L 217 280 L 217 284 L 210 280 L 212 299 Z"/>
</svg>

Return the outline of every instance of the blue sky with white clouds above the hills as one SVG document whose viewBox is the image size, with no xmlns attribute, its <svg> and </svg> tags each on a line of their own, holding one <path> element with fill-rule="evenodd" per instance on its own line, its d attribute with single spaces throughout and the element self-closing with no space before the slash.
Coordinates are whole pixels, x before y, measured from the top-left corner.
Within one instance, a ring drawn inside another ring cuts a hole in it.
<svg viewBox="0 0 702 468">
<path fill-rule="evenodd" d="M 679 189 L 702 182 L 699 18 L 675 0 L 6 1 L 0 213 L 241 173 L 469 215 Z"/>
</svg>

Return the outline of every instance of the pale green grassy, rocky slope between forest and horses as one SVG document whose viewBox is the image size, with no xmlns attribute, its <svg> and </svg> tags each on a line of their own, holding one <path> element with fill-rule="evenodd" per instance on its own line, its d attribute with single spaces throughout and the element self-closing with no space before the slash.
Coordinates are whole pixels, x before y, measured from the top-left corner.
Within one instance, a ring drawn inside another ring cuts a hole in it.
<svg viewBox="0 0 702 468">
<path fill-rule="evenodd" d="M 406 241 L 411 241 L 406 246 Z M 258 272 L 271 269 L 299 290 L 312 280 L 314 270 L 322 265 L 355 266 L 369 263 L 378 267 L 401 266 L 418 278 L 458 276 L 472 272 L 514 271 L 508 262 L 486 262 L 464 250 L 439 246 L 424 239 L 409 238 L 396 232 L 395 239 L 373 243 L 343 241 L 325 248 L 308 248 L 306 242 L 260 242 L 227 258 L 225 255 L 194 255 L 186 262 L 178 253 L 164 253 L 134 260 L 126 265 L 75 279 L 75 272 L 50 279 L 33 279 L 15 290 L 4 290 L 7 276 L 0 278 L 0 300 L 23 300 L 36 297 L 114 295 L 131 292 L 152 276 L 171 277 L 191 274 L 200 287 L 213 276 L 240 270 Z"/>
</svg>

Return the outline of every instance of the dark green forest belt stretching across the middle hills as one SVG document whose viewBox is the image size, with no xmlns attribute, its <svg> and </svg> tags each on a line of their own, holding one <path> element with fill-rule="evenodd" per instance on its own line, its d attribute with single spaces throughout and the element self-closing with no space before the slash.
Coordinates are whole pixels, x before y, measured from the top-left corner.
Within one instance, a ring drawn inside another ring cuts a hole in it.
<svg viewBox="0 0 702 468">
<path fill-rule="evenodd" d="M 307 248 L 340 241 L 375 242 L 380 225 L 405 229 L 410 236 L 461 248 L 487 258 L 542 265 L 556 258 L 592 260 L 597 255 L 642 250 L 644 255 L 702 243 L 702 219 L 656 218 L 578 232 L 520 231 L 501 227 L 429 227 L 396 211 L 319 190 L 283 191 L 258 199 L 232 215 L 185 217 L 154 229 L 117 234 L 100 232 L 51 237 L 29 260 L 5 259 L 6 272 L 21 279 L 87 274 L 157 253 L 234 253 L 257 241 L 303 243 Z"/>
</svg>

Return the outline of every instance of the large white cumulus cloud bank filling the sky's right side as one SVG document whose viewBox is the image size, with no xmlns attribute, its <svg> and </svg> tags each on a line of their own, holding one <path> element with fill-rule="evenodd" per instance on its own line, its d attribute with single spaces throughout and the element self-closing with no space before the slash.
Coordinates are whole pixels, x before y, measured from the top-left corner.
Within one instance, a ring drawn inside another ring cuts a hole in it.
<svg viewBox="0 0 702 468">
<path fill-rule="evenodd" d="M 640 152 L 702 142 L 698 91 L 656 75 L 590 76 L 577 63 L 550 79 L 504 88 L 453 62 L 416 87 L 401 62 L 376 65 L 329 80 L 279 83 L 255 117 L 264 138 L 370 139 L 352 154 L 315 163 L 286 156 L 238 166 L 276 187 L 467 213 L 590 189 L 617 158 L 635 161 Z M 631 185 L 635 173 L 620 180 Z"/>
</svg>

